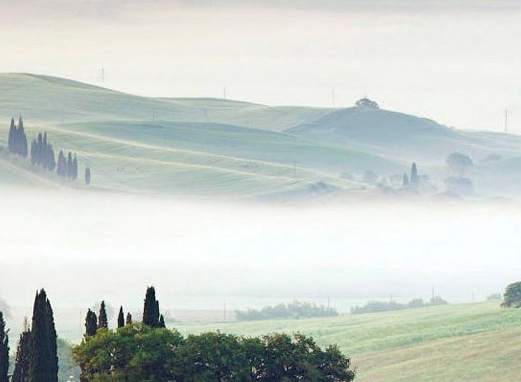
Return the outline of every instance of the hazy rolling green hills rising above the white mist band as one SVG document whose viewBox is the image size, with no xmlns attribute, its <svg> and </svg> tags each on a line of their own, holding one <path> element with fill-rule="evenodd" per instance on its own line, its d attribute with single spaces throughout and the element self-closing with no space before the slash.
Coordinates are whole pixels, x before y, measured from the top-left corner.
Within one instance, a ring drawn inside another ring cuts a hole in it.
<svg viewBox="0 0 521 382">
<path fill-rule="evenodd" d="M 430 179 L 419 192 L 432 194 L 446 189 L 445 158 L 457 151 L 475 163 L 477 196 L 521 191 L 517 167 L 507 165 L 521 152 L 517 136 L 367 107 L 147 98 L 33 74 L 0 74 L 0 179 L 8 184 L 70 186 L 7 154 L 9 120 L 19 114 L 29 142 L 47 131 L 55 151 L 78 154 L 80 178 L 91 168 L 96 189 L 287 199 L 367 196 L 391 185 L 400 194 L 416 162 Z"/>
</svg>

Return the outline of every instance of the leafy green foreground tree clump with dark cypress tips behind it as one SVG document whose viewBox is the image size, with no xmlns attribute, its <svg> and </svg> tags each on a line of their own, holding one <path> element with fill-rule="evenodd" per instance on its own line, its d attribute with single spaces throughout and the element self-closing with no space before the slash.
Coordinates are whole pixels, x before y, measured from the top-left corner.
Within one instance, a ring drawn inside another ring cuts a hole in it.
<svg viewBox="0 0 521 382">
<path fill-rule="evenodd" d="M 99 315 L 104 316 L 101 309 Z M 209 332 L 183 337 L 164 327 L 153 287 L 147 289 L 142 322 L 132 322 L 127 314 L 123 323 L 122 307 L 116 329 L 94 317 L 89 310 L 84 338 L 72 350 L 81 382 L 348 382 L 355 377 L 350 359 L 336 346 L 323 350 L 301 334 L 246 338 Z"/>
</svg>

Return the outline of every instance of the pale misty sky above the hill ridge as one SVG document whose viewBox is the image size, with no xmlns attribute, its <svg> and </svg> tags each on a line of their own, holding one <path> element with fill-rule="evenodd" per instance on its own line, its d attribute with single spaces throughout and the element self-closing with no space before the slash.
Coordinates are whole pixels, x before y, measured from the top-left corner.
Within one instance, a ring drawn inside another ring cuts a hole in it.
<svg viewBox="0 0 521 382">
<path fill-rule="evenodd" d="M 148 96 L 383 108 L 521 132 L 521 6 L 500 1 L 0 3 L 0 72 Z M 104 69 L 104 82 L 101 81 Z M 333 97 L 334 90 L 334 97 Z"/>
</svg>

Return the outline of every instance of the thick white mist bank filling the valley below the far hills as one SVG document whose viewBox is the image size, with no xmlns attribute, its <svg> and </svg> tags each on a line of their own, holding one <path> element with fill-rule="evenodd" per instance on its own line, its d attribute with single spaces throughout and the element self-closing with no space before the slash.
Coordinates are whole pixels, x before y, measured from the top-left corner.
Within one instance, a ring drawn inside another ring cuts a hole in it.
<svg viewBox="0 0 521 382">
<path fill-rule="evenodd" d="M 172 318 L 293 299 L 347 312 L 391 296 L 484 300 L 521 266 L 514 203 L 273 205 L 8 189 L 0 223 L 10 326 L 44 287 L 58 331 L 60 310 L 78 312 L 81 332 L 82 309 L 102 299 L 139 314 L 148 285 Z"/>
</svg>

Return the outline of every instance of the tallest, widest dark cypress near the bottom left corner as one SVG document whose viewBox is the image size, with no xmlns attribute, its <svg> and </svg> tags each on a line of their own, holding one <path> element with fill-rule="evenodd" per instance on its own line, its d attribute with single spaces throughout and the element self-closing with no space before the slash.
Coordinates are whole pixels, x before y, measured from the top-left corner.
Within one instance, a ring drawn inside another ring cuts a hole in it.
<svg viewBox="0 0 521 382">
<path fill-rule="evenodd" d="M 34 299 L 31 327 L 28 382 L 57 382 L 56 329 L 51 303 L 43 288 Z"/>
</svg>

